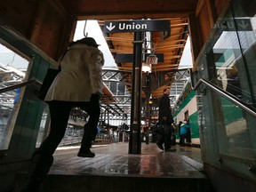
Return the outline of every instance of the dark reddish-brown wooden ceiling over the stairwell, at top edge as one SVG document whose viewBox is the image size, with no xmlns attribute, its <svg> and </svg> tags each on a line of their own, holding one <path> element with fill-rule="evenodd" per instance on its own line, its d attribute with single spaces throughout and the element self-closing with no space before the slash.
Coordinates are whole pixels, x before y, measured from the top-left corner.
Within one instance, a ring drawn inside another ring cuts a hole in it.
<svg viewBox="0 0 256 192">
<path fill-rule="evenodd" d="M 135 20 L 186 18 L 198 0 L 59 0 L 78 20 Z"/>
</svg>

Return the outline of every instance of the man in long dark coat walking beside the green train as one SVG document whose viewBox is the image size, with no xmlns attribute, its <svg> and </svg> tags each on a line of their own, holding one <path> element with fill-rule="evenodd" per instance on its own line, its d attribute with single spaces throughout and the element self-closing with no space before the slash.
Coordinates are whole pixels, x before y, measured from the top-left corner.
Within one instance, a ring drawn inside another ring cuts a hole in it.
<svg viewBox="0 0 256 192">
<path fill-rule="evenodd" d="M 171 137 L 172 137 L 172 108 L 170 106 L 170 88 L 164 89 L 164 94 L 159 101 L 159 114 L 158 122 L 164 125 L 164 134 L 159 134 L 156 145 L 158 148 L 164 151 L 174 151 L 171 150 Z M 164 145 L 164 147 L 163 147 Z"/>
</svg>

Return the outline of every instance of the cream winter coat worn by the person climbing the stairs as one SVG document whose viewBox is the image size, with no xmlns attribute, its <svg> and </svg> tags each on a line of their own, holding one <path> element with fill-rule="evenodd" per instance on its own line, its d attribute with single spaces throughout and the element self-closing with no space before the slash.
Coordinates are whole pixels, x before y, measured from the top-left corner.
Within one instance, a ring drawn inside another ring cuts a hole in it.
<svg viewBox="0 0 256 192">
<path fill-rule="evenodd" d="M 103 65 L 103 54 L 98 48 L 72 45 L 60 61 L 61 71 L 44 100 L 89 101 L 92 93 L 102 93 Z"/>
</svg>

